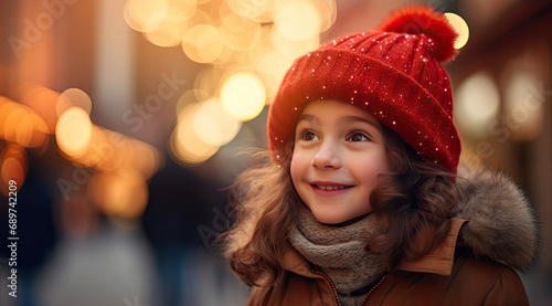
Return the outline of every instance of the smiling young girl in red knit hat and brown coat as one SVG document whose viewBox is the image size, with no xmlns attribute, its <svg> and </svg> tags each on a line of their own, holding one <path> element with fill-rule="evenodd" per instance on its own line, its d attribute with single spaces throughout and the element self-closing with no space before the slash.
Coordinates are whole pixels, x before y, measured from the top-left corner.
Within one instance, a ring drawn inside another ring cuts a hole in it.
<svg viewBox="0 0 552 306">
<path fill-rule="evenodd" d="M 426 7 L 294 63 L 268 116 L 269 158 L 235 184 L 226 233 L 247 305 L 528 305 L 523 193 L 457 173 L 443 63 L 457 33 Z M 463 178 L 466 176 L 466 178 Z"/>
</svg>

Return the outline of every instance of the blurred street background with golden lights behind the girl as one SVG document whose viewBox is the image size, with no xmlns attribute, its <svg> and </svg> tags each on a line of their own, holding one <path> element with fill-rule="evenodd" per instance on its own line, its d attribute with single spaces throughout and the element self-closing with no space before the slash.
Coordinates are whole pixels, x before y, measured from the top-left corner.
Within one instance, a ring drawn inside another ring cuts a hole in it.
<svg viewBox="0 0 552 306">
<path fill-rule="evenodd" d="M 2 247 L 0 305 L 243 305 L 210 246 L 227 226 L 224 188 L 266 147 L 279 81 L 298 55 L 412 2 L 2 1 L 0 232 L 14 181 L 20 295 Z M 542 253 L 523 282 L 550 305 L 552 2 L 417 2 L 469 27 L 446 66 L 463 159 L 534 202 Z"/>
</svg>

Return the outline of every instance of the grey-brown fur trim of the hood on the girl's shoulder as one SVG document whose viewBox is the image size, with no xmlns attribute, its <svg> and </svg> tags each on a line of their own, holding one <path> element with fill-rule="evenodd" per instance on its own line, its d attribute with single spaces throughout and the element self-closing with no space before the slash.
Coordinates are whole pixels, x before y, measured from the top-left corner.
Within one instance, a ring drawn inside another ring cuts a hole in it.
<svg viewBox="0 0 552 306">
<path fill-rule="evenodd" d="M 469 220 L 460 239 L 476 256 L 490 257 L 526 272 L 540 245 L 535 209 L 526 193 L 503 173 L 458 168 L 461 200 L 454 217 Z"/>
</svg>

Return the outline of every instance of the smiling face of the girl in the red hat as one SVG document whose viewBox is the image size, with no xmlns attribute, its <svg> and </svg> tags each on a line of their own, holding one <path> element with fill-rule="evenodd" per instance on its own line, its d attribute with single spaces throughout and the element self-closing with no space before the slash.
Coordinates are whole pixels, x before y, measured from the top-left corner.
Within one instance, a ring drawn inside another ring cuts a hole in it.
<svg viewBox="0 0 552 306">
<path fill-rule="evenodd" d="M 319 222 L 337 224 L 372 212 L 376 177 L 390 171 L 380 123 L 338 101 L 309 103 L 297 122 L 290 171 Z"/>
</svg>

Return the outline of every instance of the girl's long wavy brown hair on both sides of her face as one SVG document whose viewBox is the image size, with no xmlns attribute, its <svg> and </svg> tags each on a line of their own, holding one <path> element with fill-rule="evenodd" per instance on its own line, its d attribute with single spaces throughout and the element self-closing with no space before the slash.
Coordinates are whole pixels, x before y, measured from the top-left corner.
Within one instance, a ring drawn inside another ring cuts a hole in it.
<svg viewBox="0 0 552 306">
<path fill-rule="evenodd" d="M 380 254 L 391 271 L 445 239 L 459 196 L 453 173 L 421 160 L 395 133 L 382 128 L 392 171 L 379 176 L 370 203 L 385 230 L 367 247 Z M 283 253 L 304 204 L 289 173 L 293 144 L 272 154 L 279 157 L 279 165 L 270 152 L 258 154 L 256 163 L 232 186 L 235 222 L 222 236 L 232 271 L 250 286 L 269 286 L 284 276 Z"/>
</svg>

